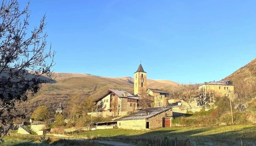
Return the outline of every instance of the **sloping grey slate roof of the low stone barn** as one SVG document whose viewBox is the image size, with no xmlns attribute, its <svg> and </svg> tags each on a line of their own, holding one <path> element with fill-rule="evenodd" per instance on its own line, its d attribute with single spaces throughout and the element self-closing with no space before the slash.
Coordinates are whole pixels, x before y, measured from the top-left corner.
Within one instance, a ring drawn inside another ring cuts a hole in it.
<svg viewBox="0 0 256 146">
<path fill-rule="evenodd" d="M 118 120 L 139 120 L 139 119 L 149 119 L 155 115 L 161 114 L 162 112 L 172 110 L 171 107 L 153 107 L 153 108 L 146 108 L 144 110 L 134 112 L 132 114 L 123 116 L 122 118 L 116 119 Z M 149 112 L 150 114 L 146 114 Z"/>
</svg>

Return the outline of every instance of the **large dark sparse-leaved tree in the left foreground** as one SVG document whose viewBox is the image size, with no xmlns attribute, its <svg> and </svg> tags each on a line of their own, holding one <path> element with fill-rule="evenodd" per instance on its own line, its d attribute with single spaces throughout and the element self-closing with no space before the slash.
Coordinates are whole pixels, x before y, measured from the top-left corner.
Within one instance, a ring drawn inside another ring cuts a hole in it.
<svg viewBox="0 0 256 146">
<path fill-rule="evenodd" d="M 25 118 L 28 96 L 34 96 L 42 83 L 52 81 L 55 52 L 46 49 L 42 17 L 39 26 L 28 29 L 29 3 L 19 9 L 17 0 L 3 0 L 0 8 L 0 137 L 8 133 L 14 118 Z M 48 62 L 48 63 L 47 63 Z M 30 70 L 30 71 L 28 71 Z M 48 74 L 48 77 L 41 75 Z M 17 104 L 18 103 L 18 104 Z M 10 124 L 11 125 L 11 124 Z M 4 130 L 4 128 L 6 130 Z"/>
</svg>

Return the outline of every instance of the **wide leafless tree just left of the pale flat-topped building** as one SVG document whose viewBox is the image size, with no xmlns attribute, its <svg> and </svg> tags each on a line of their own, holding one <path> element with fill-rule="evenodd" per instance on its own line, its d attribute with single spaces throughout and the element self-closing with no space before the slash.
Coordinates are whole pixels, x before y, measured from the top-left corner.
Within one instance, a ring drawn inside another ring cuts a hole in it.
<svg viewBox="0 0 256 146">
<path fill-rule="evenodd" d="M 197 84 L 179 84 L 174 91 L 174 95 L 179 97 L 181 100 L 188 103 L 189 108 L 191 108 L 191 101 L 194 100 L 193 97 L 198 95 L 198 85 Z"/>
</svg>

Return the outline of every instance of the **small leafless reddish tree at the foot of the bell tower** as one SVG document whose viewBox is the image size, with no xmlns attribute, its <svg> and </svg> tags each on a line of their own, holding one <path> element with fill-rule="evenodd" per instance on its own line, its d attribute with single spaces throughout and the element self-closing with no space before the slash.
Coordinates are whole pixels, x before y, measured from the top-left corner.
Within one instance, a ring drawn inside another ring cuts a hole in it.
<svg viewBox="0 0 256 146">
<path fill-rule="evenodd" d="M 138 104 L 142 106 L 142 108 L 148 108 L 154 102 L 154 97 L 149 95 L 146 91 L 141 90 L 139 95 Z"/>
</svg>

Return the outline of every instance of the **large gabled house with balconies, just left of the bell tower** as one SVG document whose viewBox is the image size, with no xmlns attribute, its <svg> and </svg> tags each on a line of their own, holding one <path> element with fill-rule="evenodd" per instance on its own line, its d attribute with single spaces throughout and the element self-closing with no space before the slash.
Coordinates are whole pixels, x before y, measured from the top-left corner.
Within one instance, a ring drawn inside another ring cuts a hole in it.
<svg viewBox="0 0 256 146">
<path fill-rule="evenodd" d="M 109 89 L 108 92 L 96 100 L 102 112 L 124 112 L 137 109 L 138 96 L 120 89 Z"/>
</svg>

